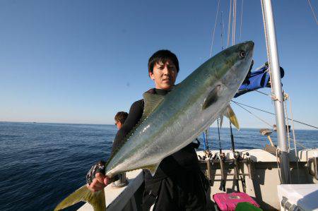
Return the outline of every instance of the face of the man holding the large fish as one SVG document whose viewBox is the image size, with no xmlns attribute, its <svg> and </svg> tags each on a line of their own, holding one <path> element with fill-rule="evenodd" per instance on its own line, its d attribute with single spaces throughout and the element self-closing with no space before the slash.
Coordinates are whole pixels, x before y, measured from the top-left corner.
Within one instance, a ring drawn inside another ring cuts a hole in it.
<svg viewBox="0 0 318 211">
<path fill-rule="evenodd" d="M 153 66 L 153 73 L 149 73 L 152 80 L 155 81 L 155 88 L 160 90 L 170 90 L 175 85 L 177 78 L 177 68 L 172 61 L 168 60 L 165 64 L 160 62 Z"/>
</svg>

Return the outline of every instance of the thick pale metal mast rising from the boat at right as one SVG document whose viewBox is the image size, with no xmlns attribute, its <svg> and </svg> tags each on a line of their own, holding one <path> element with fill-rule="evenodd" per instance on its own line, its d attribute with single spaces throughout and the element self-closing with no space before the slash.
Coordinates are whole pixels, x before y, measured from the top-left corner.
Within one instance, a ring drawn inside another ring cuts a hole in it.
<svg viewBox="0 0 318 211">
<path fill-rule="evenodd" d="M 278 149 L 281 151 L 281 183 L 290 183 L 290 167 L 288 161 L 288 147 L 286 144 L 285 114 L 283 107 L 283 90 L 281 88 L 281 71 L 278 60 L 275 23 L 271 0 L 261 0 L 263 11 L 264 32 L 266 37 L 267 57 L 271 70 L 271 85 L 275 103 Z"/>
</svg>

